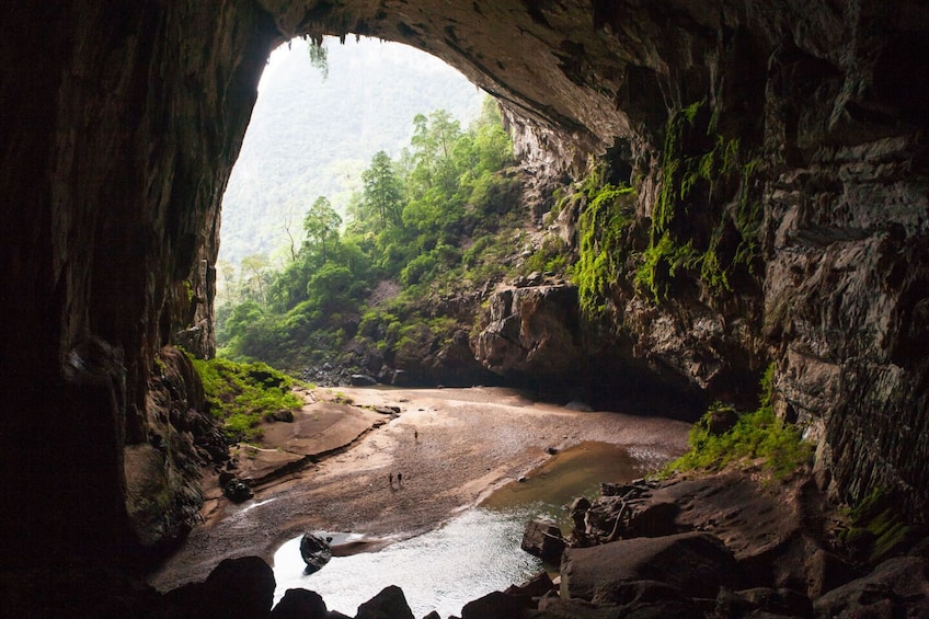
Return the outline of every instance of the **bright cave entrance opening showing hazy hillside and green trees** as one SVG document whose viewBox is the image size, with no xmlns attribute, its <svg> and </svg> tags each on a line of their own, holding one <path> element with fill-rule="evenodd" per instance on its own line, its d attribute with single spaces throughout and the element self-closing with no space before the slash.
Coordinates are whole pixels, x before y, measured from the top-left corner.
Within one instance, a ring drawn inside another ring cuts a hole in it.
<svg viewBox="0 0 929 619">
<path fill-rule="evenodd" d="M 482 140 L 506 154 L 484 164 Z M 378 376 L 403 336 L 392 299 L 463 260 L 489 202 L 472 194 L 502 184 L 488 175 L 511 152 L 488 95 L 434 56 L 369 38 L 279 46 L 223 196 L 219 354 Z M 335 359 L 362 328 L 367 348 Z"/>
</svg>

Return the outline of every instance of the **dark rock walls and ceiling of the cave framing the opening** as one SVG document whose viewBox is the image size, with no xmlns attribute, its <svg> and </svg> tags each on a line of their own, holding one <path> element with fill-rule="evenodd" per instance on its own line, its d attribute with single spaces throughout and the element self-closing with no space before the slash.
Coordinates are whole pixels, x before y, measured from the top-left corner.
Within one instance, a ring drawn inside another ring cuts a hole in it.
<svg viewBox="0 0 929 619">
<path fill-rule="evenodd" d="M 669 121 L 704 102 L 765 170 L 758 285 L 698 309 L 632 295 L 631 355 L 695 389 L 773 360 L 831 491 L 893 488 L 924 514 L 925 2 L 69 0 L 2 23 L 5 568 L 133 564 L 158 545 L 127 514 L 125 448 L 154 439 L 156 353 L 214 352 L 221 196 L 266 58 L 300 36 L 441 58 L 500 101 L 540 176 L 622 152 L 643 218 L 669 182 Z"/>
</svg>

